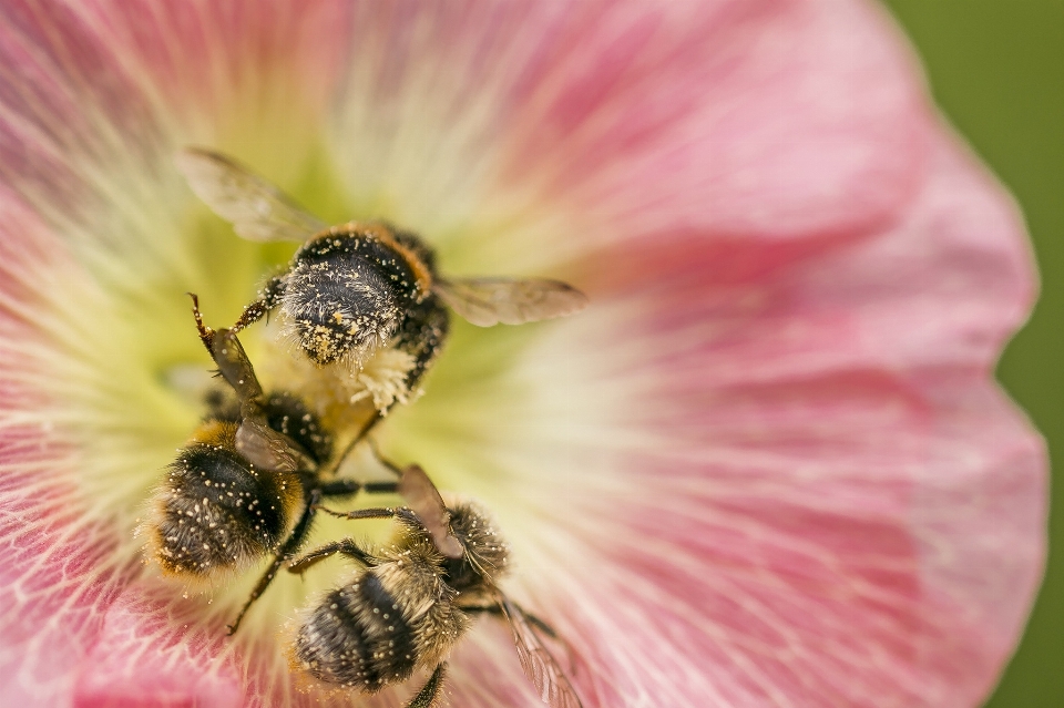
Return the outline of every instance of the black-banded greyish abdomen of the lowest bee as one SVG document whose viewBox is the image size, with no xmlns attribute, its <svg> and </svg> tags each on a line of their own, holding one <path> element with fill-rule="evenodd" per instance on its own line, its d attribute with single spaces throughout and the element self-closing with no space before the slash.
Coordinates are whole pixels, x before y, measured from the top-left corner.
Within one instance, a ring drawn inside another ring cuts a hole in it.
<svg viewBox="0 0 1064 708">
<path fill-rule="evenodd" d="M 413 628 L 372 572 L 329 593 L 300 627 L 295 653 L 311 676 L 366 692 L 406 680 L 419 659 Z"/>
</svg>

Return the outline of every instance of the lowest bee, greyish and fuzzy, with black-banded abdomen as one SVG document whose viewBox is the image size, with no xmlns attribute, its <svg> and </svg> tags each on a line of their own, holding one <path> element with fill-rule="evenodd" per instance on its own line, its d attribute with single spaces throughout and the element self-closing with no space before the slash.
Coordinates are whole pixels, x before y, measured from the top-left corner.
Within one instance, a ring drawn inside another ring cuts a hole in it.
<svg viewBox="0 0 1064 708">
<path fill-rule="evenodd" d="M 417 465 L 402 472 L 410 506 L 364 509 L 345 519 L 391 517 L 391 545 L 370 552 L 347 538 L 311 551 L 288 571 L 305 573 L 331 555 L 361 570 L 329 592 L 296 630 L 290 661 L 297 671 L 367 694 L 431 669 L 407 708 L 430 708 L 442 688 L 447 655 L 480 614 L 504 618 L 521 666 L 553 708 L 580 708 L 580 698 L 541 634 L 557 639 L 543 620 L 509 599 L 497 585 L 510 553 L 491 522 L 468 503 L 447 507 Z"/>
</svg>

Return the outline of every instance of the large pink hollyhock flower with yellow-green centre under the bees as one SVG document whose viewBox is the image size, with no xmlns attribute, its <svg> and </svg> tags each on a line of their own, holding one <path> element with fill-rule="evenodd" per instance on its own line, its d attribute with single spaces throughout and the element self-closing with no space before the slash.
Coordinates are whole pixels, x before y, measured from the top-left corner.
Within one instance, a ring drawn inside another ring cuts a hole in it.
<svg viewBox="0 0 1064 708">
<path fill-rule="evenodd" d="M 589 708 L 993 686 L 1044 550 L 1043 447 L 992 378 L 1034 276 L 874 3 L 12 0 L 0 702 L 355 700 L 301 692 L 285 656 L 349 567 L 278 578 L 229 638 L 257 573 L 186 585 L 135 536 L 202 414 L 184 293 L 231 322 L 290 254 L 193 196 L 190 144 L 323 218 L 413 229 L 447 273 L 589 293 L 456 322 L 378 437 L 491 510 L 507 592 L 567 639 Z M 367 533 L 330 521 L 311 543 Z M 447 690 L 541 705 L 492 619 Z"/>
</svg>

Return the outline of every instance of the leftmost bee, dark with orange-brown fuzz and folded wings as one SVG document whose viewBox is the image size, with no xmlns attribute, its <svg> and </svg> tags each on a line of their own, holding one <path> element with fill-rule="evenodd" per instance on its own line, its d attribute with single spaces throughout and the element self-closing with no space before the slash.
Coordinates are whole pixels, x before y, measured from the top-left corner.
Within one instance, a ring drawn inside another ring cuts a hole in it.
<svg viewBox="0 0 1064 708">
<path fill-rule="evenodd" d="M 229 625 L 232 634 L 298 551 L 321 500 L 360 490 L 393 493 L 398 483 L 332 479 L 338 463 L 326 466 L 332 435 L 297 397 L 285 391 L 267 396 L 236 334 L 205 327 L 198 300 L 192 298 L 200 338 L 236 402 L 214 401 L 171 463 L 154 495 L 151 545 L 164 572 L 186 577 L 238 571 L 274 554 Z"/>
</svg>

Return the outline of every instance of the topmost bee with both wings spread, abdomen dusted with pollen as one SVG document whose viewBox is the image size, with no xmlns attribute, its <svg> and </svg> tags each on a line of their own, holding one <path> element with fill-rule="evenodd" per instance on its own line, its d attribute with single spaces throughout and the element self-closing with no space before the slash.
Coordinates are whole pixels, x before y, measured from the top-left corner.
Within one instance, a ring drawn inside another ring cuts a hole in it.
<svg viewBox="0 0 1064 708">
<path fill-rule="evenodd" d="M 266 284 L 234 331 L 279 312 L 287 335 L 316 365 L 352 369 L 381 348 L 410 355 L 412 384 L 447 336 L 449 306 L 482 327 L 569 315 L 586 297 L 541 278 L 444 279 L 418 236 L 383 223 L 328 226 L 233 160 L 187 148 L 177 165 L 193 191 L 236 233 L 257 242 L 297 240 L 287 270 Z"/>
</svg>

